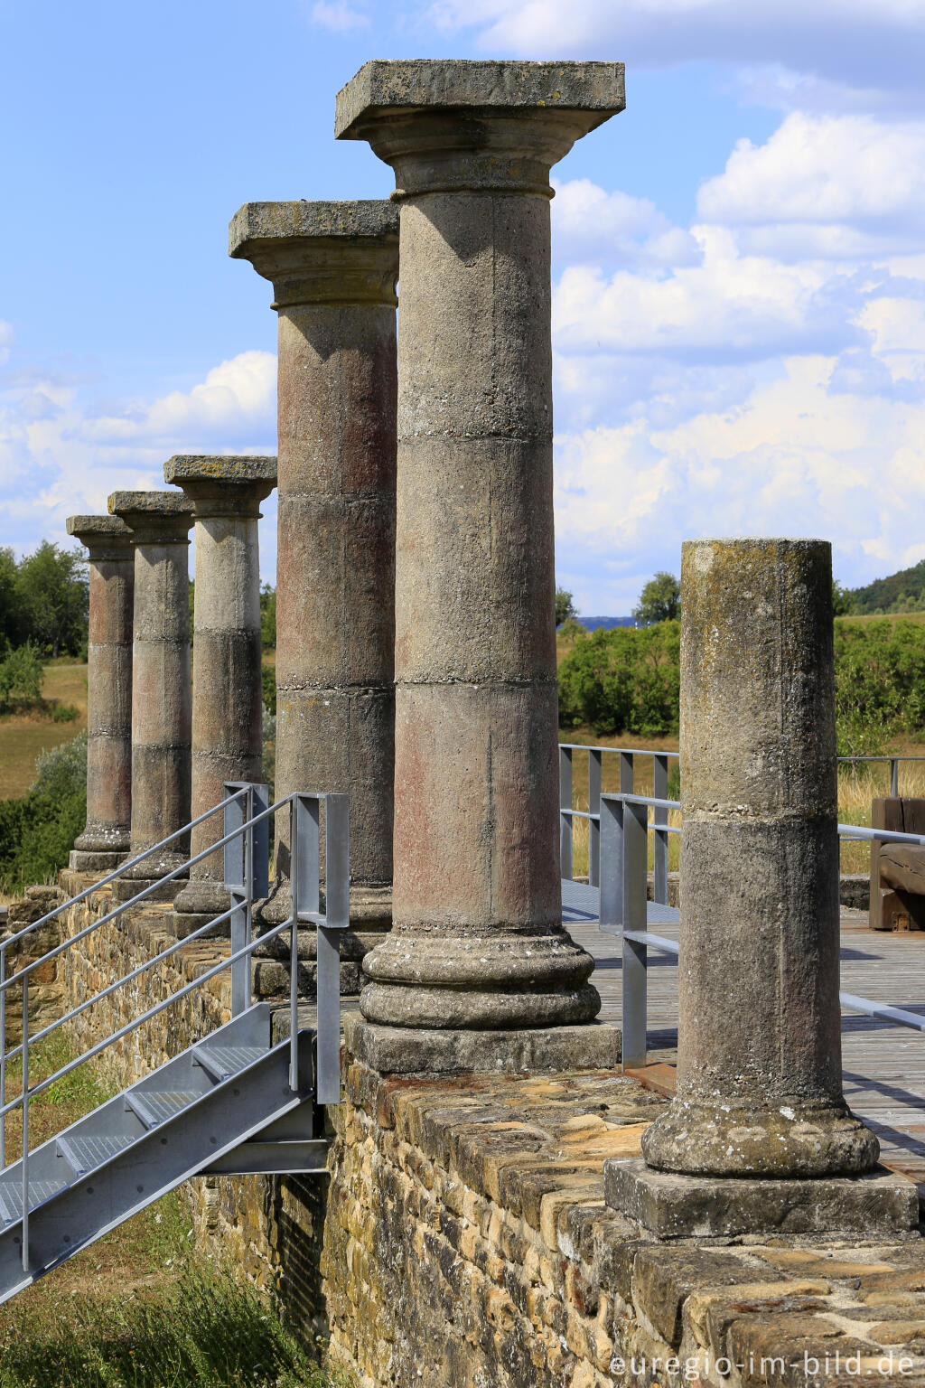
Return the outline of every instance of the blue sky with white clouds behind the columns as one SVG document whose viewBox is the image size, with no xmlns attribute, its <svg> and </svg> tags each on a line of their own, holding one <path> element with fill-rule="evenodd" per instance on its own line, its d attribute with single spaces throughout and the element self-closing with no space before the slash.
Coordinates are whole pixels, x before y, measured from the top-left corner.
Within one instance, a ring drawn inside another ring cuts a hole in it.
<svg viewBox="0 0 925 1388">
<path fill-rule="evenodd" d="M 276 451 L 244 201 L 387 197 L 333 139 L 368 58 L 596 58 L 553 169 L 556 575 L 628 612 L 682 539 L 925 558 L 925 0 L 0 0 L 0 545 Z M 275 507 L 261 522 L 273 580 Z"/>
</svg>

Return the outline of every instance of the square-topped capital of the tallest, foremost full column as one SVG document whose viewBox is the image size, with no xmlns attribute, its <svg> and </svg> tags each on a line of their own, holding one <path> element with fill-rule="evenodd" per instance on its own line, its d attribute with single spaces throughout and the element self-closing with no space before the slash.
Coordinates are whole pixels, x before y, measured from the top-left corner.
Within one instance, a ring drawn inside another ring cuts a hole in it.
<svg viewBox="0 0 925 1388">
<path fill-rule="evenodd" d="M 624 107 L 621 62 L 373 60 L 337 93 L 334 135 L 369 140 L 397 200 L 552 197 L 551 167 Z"/>
</svg>

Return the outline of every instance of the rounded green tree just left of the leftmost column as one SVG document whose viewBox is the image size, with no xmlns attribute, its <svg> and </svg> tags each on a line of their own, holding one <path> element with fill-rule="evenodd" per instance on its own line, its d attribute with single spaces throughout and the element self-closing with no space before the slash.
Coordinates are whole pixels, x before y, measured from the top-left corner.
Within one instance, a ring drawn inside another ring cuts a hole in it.
<svg viewBox="0 0 925 1388">
<path fill-rule="evenodd" d="M 17 594 L 29 636 L 53 657 L 75 655 L 86 641 L 89 583 L 79 548 L 62 550 L 43 540 L 19 564 Z"/>
</svg>

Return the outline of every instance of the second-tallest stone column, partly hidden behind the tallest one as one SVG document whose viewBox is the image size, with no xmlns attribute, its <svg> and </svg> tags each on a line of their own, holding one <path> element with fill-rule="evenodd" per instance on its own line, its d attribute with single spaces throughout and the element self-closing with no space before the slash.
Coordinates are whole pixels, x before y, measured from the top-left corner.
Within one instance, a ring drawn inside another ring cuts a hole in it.
<svg viewBox="0 0 925 1388">
<path fill-rule="evenodd" d="M 229 248 L 279 314 L 276 795 L 349 795 L 356 991 L 365 934 L 391 923 L 398 210 L 247 203 Z M 268 923 L 288 915 L 284 816 L 276 833 Z"/>
</svg>

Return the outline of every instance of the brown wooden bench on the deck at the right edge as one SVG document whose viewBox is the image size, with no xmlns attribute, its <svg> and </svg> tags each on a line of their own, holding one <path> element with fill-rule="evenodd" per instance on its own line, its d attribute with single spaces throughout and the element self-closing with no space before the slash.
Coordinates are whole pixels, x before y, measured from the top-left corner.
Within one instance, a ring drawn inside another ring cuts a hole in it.
<svg viewBox="0 0 925 1388">
<path fill-rule="evenodd" d="M 875 799 L 874 829 L 925 834 L 925 799 Z M 871 930 L 925 930 L 925 844 L 871 844 Z"/>
</svg>

